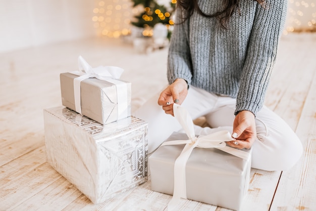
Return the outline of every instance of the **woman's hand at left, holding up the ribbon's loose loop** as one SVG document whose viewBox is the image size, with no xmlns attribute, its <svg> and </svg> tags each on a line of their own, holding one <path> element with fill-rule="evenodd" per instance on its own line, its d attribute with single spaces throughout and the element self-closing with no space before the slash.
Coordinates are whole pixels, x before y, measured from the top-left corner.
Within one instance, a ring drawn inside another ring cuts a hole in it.
<svg viewBox="0 0 316 211">
<path fill-rule="evenodd" d="M 165 113 L 173 115 L 173 104 L 181 105 L 187 94 L 187 82 L 182 78 L 177 78 L 160 94 L 158 104 L 163 106 Z"/>
</svg>

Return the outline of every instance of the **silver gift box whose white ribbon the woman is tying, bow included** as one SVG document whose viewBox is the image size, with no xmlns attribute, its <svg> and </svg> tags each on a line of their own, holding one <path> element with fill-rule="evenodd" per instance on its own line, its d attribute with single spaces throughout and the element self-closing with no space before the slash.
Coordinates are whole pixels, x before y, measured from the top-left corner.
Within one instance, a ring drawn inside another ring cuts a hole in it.
<svg viewBox="0 0 316 211">
<path fill-rule="evenodd" d="M 174 132 L 150 155 L 151 189 L 173 195 L 169 211 L 181 198 L 239 210 L 249 186 L 250 150 L 227 146 L 228 131 L 197 137 L 185 108 L 174 104 L 173 111 L 185 133 Z"/>
</svg>

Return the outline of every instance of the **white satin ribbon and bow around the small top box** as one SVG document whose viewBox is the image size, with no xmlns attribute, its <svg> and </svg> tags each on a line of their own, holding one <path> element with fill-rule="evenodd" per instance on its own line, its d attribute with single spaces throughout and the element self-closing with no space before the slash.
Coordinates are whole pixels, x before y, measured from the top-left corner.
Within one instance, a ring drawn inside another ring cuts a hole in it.
<svg viewBox="0 0 316 211">
<path fill-rule="evenodd" d="M 78 57 L 79 71 L 71 73 L 78 75 L 74 79 L 74 95 L 75 95 L 75 109 L 81 113 L 81 96 L 80 96 L 80 82 L 87 78 L 97 78 L 99 80 L 106 80 L 116 85 L 118 98 L 118 119 L 126 117 L 127 114 L 127 85 L 126 83 L 116 80 L 121 77 L 123 69 L 115 66 L 98 66 L 92 68 L 82 56 Z"/>
</svg>

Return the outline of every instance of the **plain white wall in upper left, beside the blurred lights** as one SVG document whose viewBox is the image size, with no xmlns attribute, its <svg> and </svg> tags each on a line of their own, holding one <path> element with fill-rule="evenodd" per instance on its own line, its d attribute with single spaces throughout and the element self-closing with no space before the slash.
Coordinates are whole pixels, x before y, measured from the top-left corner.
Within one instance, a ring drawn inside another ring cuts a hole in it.
<svg viewBox="0 0 316 211">
<path fill-rule="evenodd" d="M 0 0 L 0 53 L 95 36 L 94 0 Z"/>
</svg>

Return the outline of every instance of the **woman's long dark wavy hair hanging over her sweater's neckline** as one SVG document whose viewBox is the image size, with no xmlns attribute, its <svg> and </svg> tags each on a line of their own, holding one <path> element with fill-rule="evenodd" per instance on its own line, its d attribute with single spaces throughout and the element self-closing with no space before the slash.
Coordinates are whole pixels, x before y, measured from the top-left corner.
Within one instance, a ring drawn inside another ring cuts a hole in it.
<svg viewBox="0 0 316 211">
<path fill-rule="evenodd" d="M 234 10 L 238 9 L 239 12 L 239 2 L 240 0 L 223 0 L 224 1 L 224 10 L 216 12 L 215 14 L 206 15 L 198 7 L 197 0 L 178 0 L 177 6 L 181 10 L 184 10 L 185 13 L 181 12 L 181 18 L 183 21 L 188 19 L 196 10 L 200 15 L 208 18 L 217 18 L 223 28 L 227 28 L 227 23 L 231 17 Z M 259 3 L 261 6 L 265 6 L 265 0 L 253 0 Z"/>
</svg>

